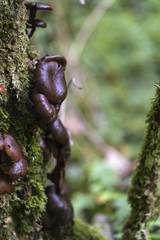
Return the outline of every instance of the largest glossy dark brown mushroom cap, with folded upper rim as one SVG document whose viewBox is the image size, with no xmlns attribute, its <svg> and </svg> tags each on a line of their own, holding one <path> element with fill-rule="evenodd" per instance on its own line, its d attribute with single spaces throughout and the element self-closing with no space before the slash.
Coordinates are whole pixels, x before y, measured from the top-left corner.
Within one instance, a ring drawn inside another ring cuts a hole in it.
<svg viewBox="0 0 160 240">
<path fill-rule="evenodd" d="M 67 85 L 62 65 L 54 61 L 39 61 L 34 76 L 36 87 L 50 103 L 60 105 L 64 101 L 67 96 Z"/>
</svg>

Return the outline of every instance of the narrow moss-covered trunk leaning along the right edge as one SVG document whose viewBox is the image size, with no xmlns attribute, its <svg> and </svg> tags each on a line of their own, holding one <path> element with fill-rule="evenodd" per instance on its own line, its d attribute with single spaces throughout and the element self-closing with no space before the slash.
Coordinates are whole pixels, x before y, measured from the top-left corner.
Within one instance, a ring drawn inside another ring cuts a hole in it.
<svg viewBox="0 0 160 240">
<path fill-rule="evenodd" d="M 124 240 L 149 239 L 146 225 L 159 214 L 160 89 L 147 116 L 147 131 L 139 164 L 129 190 L 131 215 L 124 228 Z"/>
</svg>

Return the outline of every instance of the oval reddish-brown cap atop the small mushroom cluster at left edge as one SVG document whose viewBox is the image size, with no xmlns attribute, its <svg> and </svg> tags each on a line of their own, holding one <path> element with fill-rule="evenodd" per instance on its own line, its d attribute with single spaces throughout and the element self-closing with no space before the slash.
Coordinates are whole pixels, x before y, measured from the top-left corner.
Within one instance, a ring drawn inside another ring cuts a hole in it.
<svg viewBox="0 0 160 240">
<path fill-rule="evenodd" d="M 6 154 L 14 162 L 18 162 L 22 157 L 22 153 L 16 140 L 9 134 L 5 134 L 3 136 L 3 139 L 4 139 L 4 148 L 5 148 Z"/>
</svg>

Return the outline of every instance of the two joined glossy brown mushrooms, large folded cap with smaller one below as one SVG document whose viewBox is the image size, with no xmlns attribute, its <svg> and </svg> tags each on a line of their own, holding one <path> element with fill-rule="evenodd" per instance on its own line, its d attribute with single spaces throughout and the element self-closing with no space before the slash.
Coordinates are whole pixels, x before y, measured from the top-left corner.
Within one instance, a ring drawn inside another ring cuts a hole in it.
<svg viewBox="0 0 160 240">
<path fill-rule="evenodd" d="M 66 59 L 61 55 L 46 55 L 37 61 L 35 68 L 29 61 L 35 80 L 31 100 L 36 112 L 49 124 L 56 120 L 60 106 L 67 96 L 65 66 Z"/>
</svg>

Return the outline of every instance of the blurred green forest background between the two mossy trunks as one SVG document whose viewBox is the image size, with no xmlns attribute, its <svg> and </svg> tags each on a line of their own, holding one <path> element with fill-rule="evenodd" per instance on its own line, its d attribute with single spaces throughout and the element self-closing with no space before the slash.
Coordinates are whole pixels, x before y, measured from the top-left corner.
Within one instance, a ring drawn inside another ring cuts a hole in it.
<svg viewBox="0 0 160 240">
<path fill-rule="evenodd" d="M 43 0 L 53 12 L 32 39 L 67 58 L 61 118 L 72 136 L 67 183 L 75 216 L 120 239 L 127 189 L 160 76 L 159 0 Z M 86 4 L 85 4 L 86 3 Z M 148 226 L 160 239 L 160 219 Z"/>
</svg>

